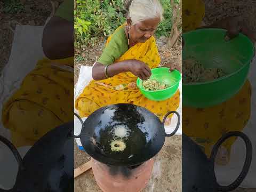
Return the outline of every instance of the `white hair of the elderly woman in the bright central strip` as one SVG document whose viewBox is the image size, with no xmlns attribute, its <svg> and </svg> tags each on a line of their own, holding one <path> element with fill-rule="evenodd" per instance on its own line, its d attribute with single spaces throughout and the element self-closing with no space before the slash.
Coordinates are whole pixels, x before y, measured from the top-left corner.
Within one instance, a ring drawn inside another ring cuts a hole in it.
<svg viewBox="0 0 256 192">
<path fill-rule="evenodd" d="M 163 7 L 158 0 L 133 0 L 129 9 L 132 25 L 148 19 L 163 20 Z"/>
</svg>

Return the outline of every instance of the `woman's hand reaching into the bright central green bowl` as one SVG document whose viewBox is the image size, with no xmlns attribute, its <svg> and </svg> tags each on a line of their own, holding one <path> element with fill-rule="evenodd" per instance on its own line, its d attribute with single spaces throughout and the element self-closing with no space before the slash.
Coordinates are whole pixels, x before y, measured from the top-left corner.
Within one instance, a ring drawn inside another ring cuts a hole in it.
<svg viewBox="0 0 256 192">
<path fill-rule="evenodd" d="M 143 81 L 151 76 L 151 69 L 142 61 L 136 59 L 129 60 L 128 68 L 133 75 L 139 77 Z"/>
</svg>

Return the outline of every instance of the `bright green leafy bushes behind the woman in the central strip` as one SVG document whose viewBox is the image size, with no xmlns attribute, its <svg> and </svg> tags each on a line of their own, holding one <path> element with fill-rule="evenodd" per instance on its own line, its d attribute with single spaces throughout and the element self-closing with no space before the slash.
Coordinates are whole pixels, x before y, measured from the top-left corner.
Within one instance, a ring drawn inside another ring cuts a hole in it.
<svg viewBox="0 0 256 192">
<path fill-rule="evenodd" d="M 179 1 L 179 0 L 175 0 Z M 169 36 L 172 28 L 170 0 L 160 0 L 164 8 L 164 21 L 159 24 L 156 36 Z M 125 21 L 124 0 L 76 0 L 75 30 L 77 48 L 93 45 L 102 36 L 109 36 Z"/>
</svg>

